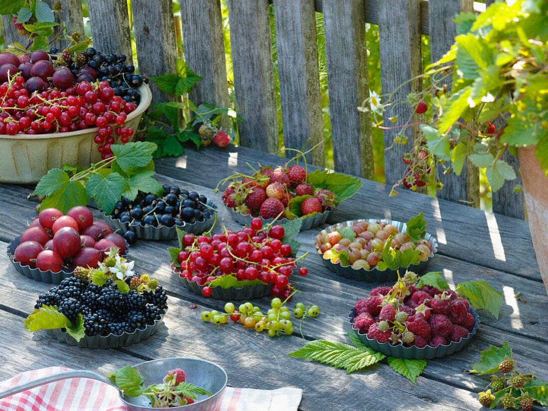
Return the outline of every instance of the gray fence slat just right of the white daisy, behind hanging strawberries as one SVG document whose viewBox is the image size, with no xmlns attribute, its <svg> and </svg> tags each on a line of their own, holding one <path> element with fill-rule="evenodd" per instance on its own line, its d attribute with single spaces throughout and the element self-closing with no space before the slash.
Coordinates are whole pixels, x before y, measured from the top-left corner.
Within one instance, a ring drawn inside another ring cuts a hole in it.
<svg viewBox="0 0 548 411">
<path fill-rule="evenodd" d="M 383 95 L 394 92 L 392 101 L 383 114 L 384 124 L 392 125 L 390 118 L 397 117 L 396 125 L 403 125 L 409 119 L 418 119 L 413 107 L 405 101 L 411 92 L 422 88 L 421 80 L 415 78 L 422 72 L 419 0 L 395 0 L 379 3 L 379 45 L 381 87 Z M 400 87 L 401 85 L 401 87 Z M 385 97 L 386 102 L 387 97 Z M 384 130 L 384 145 L 391 147 L 385 151 L 386 184 L 397 183 L 407 172 L 402 161 L 403 153 L 413 147 L 418 128 L 407 129 L 407 144 L 396 144 L 394 138 L 398 129 Z"/>
</svg>

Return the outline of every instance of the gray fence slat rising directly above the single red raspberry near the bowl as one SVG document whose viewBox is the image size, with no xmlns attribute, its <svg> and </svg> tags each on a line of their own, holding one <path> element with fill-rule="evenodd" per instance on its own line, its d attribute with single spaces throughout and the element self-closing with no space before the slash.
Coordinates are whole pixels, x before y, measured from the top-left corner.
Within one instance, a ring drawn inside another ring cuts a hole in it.
<svg viewBox="0 0 548 411">
<path fill-rule="evenodd" d="M 180 0 L 185 60 L 203 77 L 191 90 L 196 104 L 229 106 L 221 6 L 218 0 Z"/>
</svg>

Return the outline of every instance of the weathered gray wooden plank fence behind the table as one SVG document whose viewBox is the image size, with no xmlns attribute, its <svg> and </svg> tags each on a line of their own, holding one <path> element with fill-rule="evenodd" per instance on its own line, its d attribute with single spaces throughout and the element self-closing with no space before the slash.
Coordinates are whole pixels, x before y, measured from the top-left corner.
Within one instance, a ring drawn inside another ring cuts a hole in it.
<svg viewBox="0 0 548 411">
<path fill-rule="evenodd" d="M 51 2 L 52 0 L 46 0 Z M 126 0 L 88 0 L 94 45 L 104 53 L 130 53 L 130 31 L 135 33 L 137 62 L 141 73 L 156 76 L 175 71 L 176 39 L 184 44 L 188 65 L 204 79 L 191 93 L 197 103 L 226 107 L 225 49 L 220 0 L 179 0 L 180 19 L 174 24 L 172 0 L 132 0 L 130 27 Z M 493 0 L 488 0 L 489 4 Z M 472 0 L 226 0 L 229 7 L 232 65 L 236 111 L 244 119 L 239 125 L 243 146 L 278 153 L 278 129 L 284 146 L 301 149 L 309 140 L 323 141 L 319 91 L 315 12 L 323 13 L 326 37 L 329 114 L 338 171 L 373 178 L 373 143 L 368 113 L 357 107 L 369 96 L 365 24 L 379 25 L 381 86 L 383 94 L 423 71 L 421 35 L 430 36 L 431 61 L 441 57 L 453 43 L 453 16 L 459 11 L 481 12 L 486 5 Z M 80 0 L 61 0 L 62 19 L 73 30 L 82 30 Z M 272 6 L 271 6 L 272 4 Z M 271 54 L 270 7 L 276 27 L 279 92 L 282 124 L 278 124 L 275 70 Z M 6 43 L 24 42 L 8 16 L 2 16 Z M 182 26 L 182 33 L 179 32 Z M 59 44 L 62 46 L 62 44 Z M 152 85 L 154 88 L 154 85 Z M 420 91 L 421 82 L 410 82 L 397 92 L 404 97 Z M 168 96 L 154 91 L 154 101 Z M 414 117 L 406 105 L 387 109 L 385 120 Z M 403 150 L 412 147 L 418 129 L 410 130 L 406 147 L 385 151 L 385 176 L 393 184 L 403 175 Z M 385 131 L 385 146 L 391 146 L 393 131 Z M 323 165 L 324 147 L 309 154 Z M 519 170 L 517 159 L 511 164 Z M 467 163 L 470 163 L 468 161 Z M 441 198 L 473 200 L 479 192 L 478 170 L 467 166 L 463 175 L 442 177 L 446 187 Z M 517 184 L 520 182 L 518 181 Z M 493 210 L 523 218 L 523 196 L 513 193 L 516 182 L 507 182 L 493 195 Z"/>
</svg>

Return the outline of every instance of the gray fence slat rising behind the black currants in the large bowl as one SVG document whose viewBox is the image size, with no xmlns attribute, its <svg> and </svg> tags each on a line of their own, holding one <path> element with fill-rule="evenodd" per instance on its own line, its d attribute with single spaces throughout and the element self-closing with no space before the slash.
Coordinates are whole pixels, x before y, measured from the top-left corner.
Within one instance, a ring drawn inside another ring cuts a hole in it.
<svg viewBox="0 0 548 411">
<path fill-rule="evenodd" d="M 92 0 L 88 9 L 93 47 L 104 54 L 125 54 L 132 61 L 127 1 Z"/>
</svg>

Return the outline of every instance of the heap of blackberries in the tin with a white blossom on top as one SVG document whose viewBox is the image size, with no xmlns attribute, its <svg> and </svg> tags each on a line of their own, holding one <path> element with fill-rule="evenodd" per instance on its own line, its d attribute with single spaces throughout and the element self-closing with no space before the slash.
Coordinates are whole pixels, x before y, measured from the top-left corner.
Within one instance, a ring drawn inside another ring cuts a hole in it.
<svg viewBox="0 0 548 411">
<path fill-rule="evenodd" d="M 132 277 L 128 277 L 129 284 Z M 122 335 L 145 329 L 161 320 L 167 309 L 167 294 L 162 286 L 155 292 L 121 293 L 112 280 L 98 286 L 76 277 L 68 277 L 60 285 L 40 294 L 35 309 L 42 305 L 58 307 L 59 312 L 75 323 L 79 314 L 84 319 L 85 335 Z"/>
</svg>

